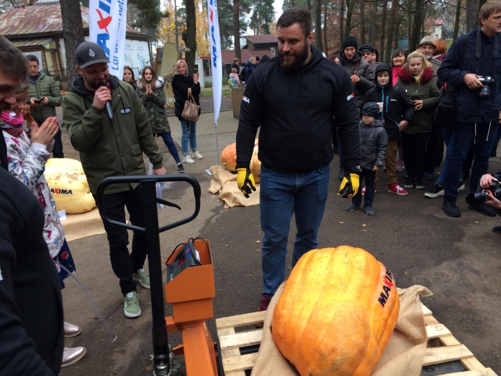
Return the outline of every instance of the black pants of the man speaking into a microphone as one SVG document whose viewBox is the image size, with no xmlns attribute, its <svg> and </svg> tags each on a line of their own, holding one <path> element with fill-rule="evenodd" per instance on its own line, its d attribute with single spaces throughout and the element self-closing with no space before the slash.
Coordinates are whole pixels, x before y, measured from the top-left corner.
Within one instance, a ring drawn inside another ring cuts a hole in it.
<svg viewBox="0 0 501 376">
<path fill-rule="evenodd" d="M 94 200 L 96 200 L 96 196 Z M 97 200 L 96 200 L 97 203 Z M 105 195 L 104 211 L 108 218 L 125 223 L 125 207 L 130 214 L 130 222 L 134 226 L 144 227 L 143 187 L 140 185 L 135 190 Z M 111 267 L 120 279 L 122 294 L 137 291 L 132 273 L 141 269 L 148 254 L 146 236 L 144 233 L 133 231 L 132 252 L 129 255 L 129 234 L 121 227 L 104 223 L 104 229 L 110 245 Z"/>
</svg>

